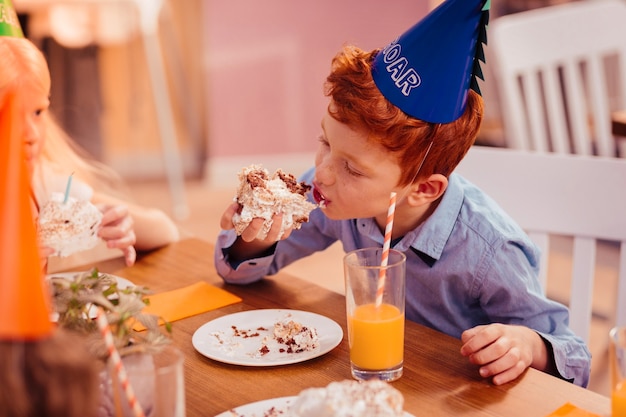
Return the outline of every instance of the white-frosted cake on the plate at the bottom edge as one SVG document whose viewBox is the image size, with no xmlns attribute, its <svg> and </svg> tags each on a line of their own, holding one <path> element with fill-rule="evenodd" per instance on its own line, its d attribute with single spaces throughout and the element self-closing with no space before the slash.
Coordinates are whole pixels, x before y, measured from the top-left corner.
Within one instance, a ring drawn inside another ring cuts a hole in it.
<svg viewBox="0 0 626 417">
<path fill-rule="evenodd" d="M 286 417 L 401 417 L 404 398 L 380 380 L 331 382 L 298 395 Z"/>
</svg>

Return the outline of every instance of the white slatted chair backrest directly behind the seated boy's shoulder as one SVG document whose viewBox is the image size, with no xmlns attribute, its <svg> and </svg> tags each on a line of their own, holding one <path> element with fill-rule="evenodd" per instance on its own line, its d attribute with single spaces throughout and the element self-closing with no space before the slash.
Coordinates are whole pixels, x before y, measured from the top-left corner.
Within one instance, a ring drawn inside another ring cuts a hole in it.
<svg viewBox="0 0 626 417">
<path fill-rule="evenodd" d="M 573 238 L 570 326 L 589 340 L 596 245 L 619 245 L 615 324 L 626 324 L 626 160 L 474 146 L 457 167 L 507 211 L 542 250 Z M 547 278 L 549 279 L 549 277 Z"/>
</svg>

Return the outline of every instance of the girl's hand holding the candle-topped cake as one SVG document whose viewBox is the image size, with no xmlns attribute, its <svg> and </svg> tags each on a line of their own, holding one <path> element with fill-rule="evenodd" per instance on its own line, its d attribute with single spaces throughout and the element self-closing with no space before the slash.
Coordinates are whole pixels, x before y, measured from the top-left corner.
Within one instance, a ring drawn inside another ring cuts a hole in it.
<svg viewBox="0 0 626 417">
<path fill-rule="evenodd" d="M 134 221 L 128 207 L 123 204 L 98 205 L 102 212 L 102 222 L 98 236 L 104 240 L 108 248 L 117 248 L 124 253 L 127 266 L 132 266 L 137 259 Z"/>
</svg>

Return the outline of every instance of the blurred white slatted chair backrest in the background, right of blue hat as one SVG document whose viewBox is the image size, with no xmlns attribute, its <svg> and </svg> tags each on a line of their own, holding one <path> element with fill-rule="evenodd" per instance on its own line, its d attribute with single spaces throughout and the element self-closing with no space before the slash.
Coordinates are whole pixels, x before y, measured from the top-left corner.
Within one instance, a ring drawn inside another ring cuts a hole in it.
<svg viewBox="0 0 626 417">
<path fill-rule="evenodd" d="M 507 147 L 616 156 L 626 108 L 626 1 L 581 0 L 489 25 Z"/>
</svg>

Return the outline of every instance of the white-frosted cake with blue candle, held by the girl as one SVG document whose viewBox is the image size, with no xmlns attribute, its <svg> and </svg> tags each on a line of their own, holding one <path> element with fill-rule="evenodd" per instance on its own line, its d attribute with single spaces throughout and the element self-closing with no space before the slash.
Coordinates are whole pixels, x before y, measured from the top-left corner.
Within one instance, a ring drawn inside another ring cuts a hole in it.
<svg viewBox="0 0 626 417">
<path fill-rule="evenodd" d="M 100 240 L 98 226 L 102 213 L 87 200 L 52 193 L 39 213 L 39 240 L 42 245 L 53 248 L 56 256 L 88 250 Z"/>
</svg>

